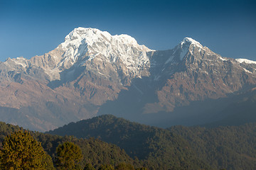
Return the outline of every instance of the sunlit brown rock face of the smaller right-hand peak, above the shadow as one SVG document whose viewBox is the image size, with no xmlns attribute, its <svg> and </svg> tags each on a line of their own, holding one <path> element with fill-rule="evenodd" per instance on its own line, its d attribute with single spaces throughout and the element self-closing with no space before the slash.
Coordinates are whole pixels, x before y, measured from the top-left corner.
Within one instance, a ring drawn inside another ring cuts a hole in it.
<svg viewBox="0 0 256 170">
<path fill-rule="evenodd" d="M 153 59 L 159 54 L 153 55 Z M 159 102 L 147 105 L 170 112 L 191 101 L 226 97 L 250 88 L 256 84 L 256 63 L 238 61 L 221 57 L 199 42 L 185 38 L 161 65 L 161 72 L 156 76 L 165 82 L 156 91 Z"/>
</svg>

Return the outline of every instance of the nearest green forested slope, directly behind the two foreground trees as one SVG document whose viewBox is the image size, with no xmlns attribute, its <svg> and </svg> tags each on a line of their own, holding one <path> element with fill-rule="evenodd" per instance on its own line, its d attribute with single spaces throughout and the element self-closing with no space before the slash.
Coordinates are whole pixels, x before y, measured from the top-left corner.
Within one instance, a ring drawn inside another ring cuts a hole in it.
<svg viewBox="0 0 256 170">
<path fill-rule="evenodd" d="M 6 135 L 10 135 L 18 130 L 23 130 L 18 126 L 9 125 L 0 122 L 0 148 L 2 147 L 2 142 Z M 135 168 L 142 167 L 142 162 L 139 160 L 134 160 L 129 157 L 123 149 L 117 147 L 117 145 L 108 144 L 107 142 L 102 142 L 97 139 L 77 139 L 75 137 L 60 137 L 57 135 L 44 134 L 42 132 L 31 132 L 31 135 L 41 142 L 43 149 L 55 160 L 55 149 L 58 145 L 63 142 L 74 142 L 82 150 L 83 159 L 80 162 L 80 166 L 84 167 L 85 164 L 90 163 L 96 169 L 102 164 L 112 164 L 117 166 L 121 163 L 131 164 Z"/>
</svg>

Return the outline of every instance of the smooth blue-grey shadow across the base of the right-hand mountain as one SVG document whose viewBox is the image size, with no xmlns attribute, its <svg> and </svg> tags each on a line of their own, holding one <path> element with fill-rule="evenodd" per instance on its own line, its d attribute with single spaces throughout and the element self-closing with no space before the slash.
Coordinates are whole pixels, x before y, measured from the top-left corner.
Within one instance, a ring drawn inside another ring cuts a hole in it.
<svg viewBox="0 0 256 170">
<path fill-rule="evenodd" d="M 114 101 L 100 106 L 97 115 L 112 114 L 128 120 L 168 128 L 171 125 L 242 125 L 256 121 L 256 91 L 240 91 L 228 94 L 225 98 L 191 101 L 186 106 L 174 108 L 174 111 L 144 113 L 147 103 L 158 102 L 156 86 L 149 88 L 146 79 L 136 79 L 128 90 L 122 90 Z M 145 87 L 146 86 L 146 87 Z"/>
</svg>

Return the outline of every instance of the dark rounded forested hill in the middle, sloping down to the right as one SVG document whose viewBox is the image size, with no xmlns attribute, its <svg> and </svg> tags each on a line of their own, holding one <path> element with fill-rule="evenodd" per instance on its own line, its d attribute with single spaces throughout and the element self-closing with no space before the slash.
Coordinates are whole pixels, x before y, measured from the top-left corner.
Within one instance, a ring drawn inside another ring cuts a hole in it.
<svg viewBox="0 0 256 170">
<path fill-rule="evenodd" d="M 82 138 L 97 137 L 121 147 L 131 157 L 149 161 L 152 169 L 210 169 L 181 136 L 169 130 L 132 123 L 113 115 L 101 115 L 70 123 L 49 133 Z"/>
</svg>

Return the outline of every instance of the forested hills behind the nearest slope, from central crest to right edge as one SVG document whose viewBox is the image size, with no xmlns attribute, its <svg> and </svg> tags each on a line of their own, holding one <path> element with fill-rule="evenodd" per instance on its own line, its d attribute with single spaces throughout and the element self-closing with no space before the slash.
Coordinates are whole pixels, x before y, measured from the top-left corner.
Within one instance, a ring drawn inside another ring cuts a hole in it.
<svg viewBox="0 0 256 170">
<path fill-rule="evenodd" d="M 208 129 L 175 126 L 165 130 L 101 115 L 49 133 L 100 138 L 132 157 L 150 160 L 156 169 L 256 169 L 256 123 Z"/>
</svg>

